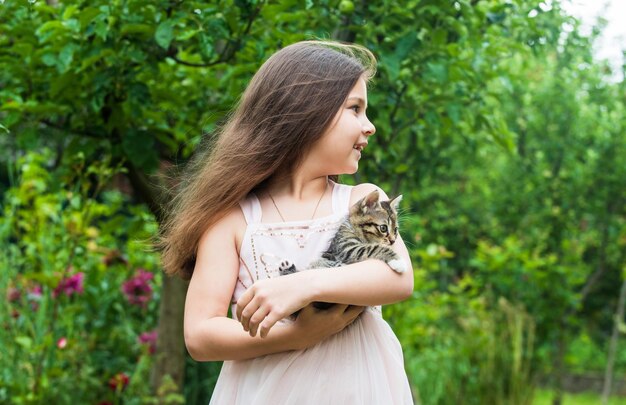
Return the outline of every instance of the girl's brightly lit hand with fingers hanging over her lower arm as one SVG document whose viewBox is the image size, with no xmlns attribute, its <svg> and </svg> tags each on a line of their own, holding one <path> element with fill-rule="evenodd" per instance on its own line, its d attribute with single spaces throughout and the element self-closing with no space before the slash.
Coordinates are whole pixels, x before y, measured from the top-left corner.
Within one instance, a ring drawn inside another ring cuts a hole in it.
<svg viewBox="0 0 626 405">
<path fill-rule="evenodd" d="M 243 329 L 261 337 L 279 320 L 304 308 L 311 302 L 304 273 L 290 274 L 254 283 L 237 300 L 237 319 Z"/>
</svg>

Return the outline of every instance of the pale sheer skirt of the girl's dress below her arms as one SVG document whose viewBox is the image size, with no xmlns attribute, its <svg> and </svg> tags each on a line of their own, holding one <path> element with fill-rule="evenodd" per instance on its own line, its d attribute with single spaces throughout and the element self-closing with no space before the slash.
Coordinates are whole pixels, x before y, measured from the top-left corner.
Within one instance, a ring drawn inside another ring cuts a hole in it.
<svg viewBox="0 0 626 405">
<path fill-rule="evenodd" d="M 402 348 L 376 308 L 306 350 L 225 361 L 211 405 L 413 404 Z"/>
</svg>

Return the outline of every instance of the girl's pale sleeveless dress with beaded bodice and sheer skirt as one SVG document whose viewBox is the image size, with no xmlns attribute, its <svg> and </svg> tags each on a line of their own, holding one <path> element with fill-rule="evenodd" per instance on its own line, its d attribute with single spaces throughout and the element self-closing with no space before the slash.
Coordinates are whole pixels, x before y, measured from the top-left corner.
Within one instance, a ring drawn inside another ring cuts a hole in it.
<svg viewBox="0 0 626 405">
<path fill-rule="evenodd" d="M 240 203 L 248 226 L 231 312 L 255 280 L 279 276 L 281 261 L 304 269 L 326 250 L 348 213 L 352 189 L 332 185 L 333 214 L 310 221 L 261 223 L 254 194 Z M 308 349 L 225 361 L 210 403 L 395 405 L 413 399 L 400 343 L 380 308 L 368 307 L 344 330 Z"/>
</svg>

